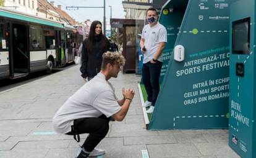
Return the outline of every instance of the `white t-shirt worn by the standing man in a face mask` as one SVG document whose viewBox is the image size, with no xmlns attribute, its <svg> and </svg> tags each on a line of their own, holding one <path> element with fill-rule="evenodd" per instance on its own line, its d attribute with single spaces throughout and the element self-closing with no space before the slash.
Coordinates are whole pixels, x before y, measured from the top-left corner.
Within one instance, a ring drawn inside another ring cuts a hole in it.
<svg viewBox="0 0 256 158">
<path fill-rule="evenodd" d="M 149 24 L 145 25 L 142 30 L 142 38 L 145 40 L 144 44 L 147 50 L 144 53 L 143 63 L 147 63 L 153 58 L 160 42 L 167 42 L 166 28 L 160 23 L 157 23 L 153 27 L 150 27 Z M 163 62 L 163 53 L 157 60 Z"/>
</svg>

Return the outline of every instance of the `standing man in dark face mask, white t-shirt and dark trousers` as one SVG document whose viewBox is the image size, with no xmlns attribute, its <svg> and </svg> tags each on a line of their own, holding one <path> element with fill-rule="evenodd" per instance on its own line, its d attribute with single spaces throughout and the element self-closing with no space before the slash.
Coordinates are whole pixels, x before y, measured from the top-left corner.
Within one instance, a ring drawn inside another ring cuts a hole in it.
<svg viewBox="0 0 256 158">
<path fill-rule="evenodd" d="M 142 66 L 142 81 L 147 91 L 147 101 L 142 105 L 150 108 L 147 113 L 153 113 L 156 98 L 160 90 L 159 77 L 163 65 L 163 49 L 167 42 L 167 31 L 157 22 L 156 9 L 150 8 L 146 12 L 148 25 L 142 30 L 140 47 L 144 54 Z"/>
</svg>

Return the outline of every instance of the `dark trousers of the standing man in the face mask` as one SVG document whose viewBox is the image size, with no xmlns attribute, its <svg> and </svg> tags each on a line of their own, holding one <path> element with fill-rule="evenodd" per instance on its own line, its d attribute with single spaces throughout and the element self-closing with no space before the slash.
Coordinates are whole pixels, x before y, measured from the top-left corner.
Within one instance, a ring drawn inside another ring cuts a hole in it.
<svg viewBox="0 0 256 158">
<path fill-rule="evenodd" d="M 142 81 L 148 94 L 148 101 L 152 102 L 152 106 L 155 106 L 160 90 L 159 77 L 162 65 L 160 61 L 156 61 L 155 64 L 149 61 L 142 66 Z"/>
</svg>

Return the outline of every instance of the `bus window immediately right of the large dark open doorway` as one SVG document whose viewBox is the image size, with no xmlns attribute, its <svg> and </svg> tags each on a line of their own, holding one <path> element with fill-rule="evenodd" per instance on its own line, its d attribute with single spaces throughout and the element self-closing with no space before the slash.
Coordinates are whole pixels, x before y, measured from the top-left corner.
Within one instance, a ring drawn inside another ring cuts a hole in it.
<svg viewBox="0 0 256 158">
<path fill-rule="evenodd" d="M 30 27 L 30 49 L 42 50 L 45 49 L 45 38 L 43 37 L 43 30 L 40 26 Z"/>
</svg>

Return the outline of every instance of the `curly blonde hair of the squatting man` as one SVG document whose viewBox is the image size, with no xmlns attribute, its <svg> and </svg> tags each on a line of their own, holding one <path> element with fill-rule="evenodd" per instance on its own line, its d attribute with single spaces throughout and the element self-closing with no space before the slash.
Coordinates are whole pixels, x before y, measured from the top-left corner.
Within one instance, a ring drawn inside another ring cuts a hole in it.
<svg viewBox="0 0 256 158">
<path fill-rule="evenodd" d="M 108 63 L 111 65 L 117 63 L 119 66 L 124 66 L 126 63 L 126 59 L 119 52 L 106 52 L 103 53 L 102 57 L 103 59 L 101 69 L 105 69 Z"/>
</svg>

